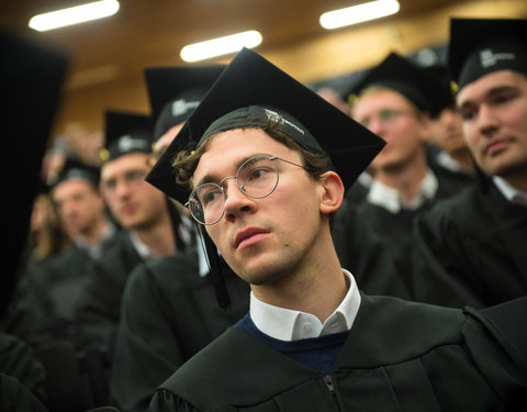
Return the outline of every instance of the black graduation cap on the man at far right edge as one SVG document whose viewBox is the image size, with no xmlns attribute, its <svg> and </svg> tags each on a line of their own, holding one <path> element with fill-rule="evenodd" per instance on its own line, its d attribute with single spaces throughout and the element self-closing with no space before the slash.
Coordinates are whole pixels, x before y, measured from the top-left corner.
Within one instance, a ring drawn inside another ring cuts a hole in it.
<svg viewBox="0 0 527 412">
<path fill-rule="evenodd" d="M 461 89 L 496 70 L 527 74 L 527 20 L 451 19 L 448 66 Z"/>
</svg>

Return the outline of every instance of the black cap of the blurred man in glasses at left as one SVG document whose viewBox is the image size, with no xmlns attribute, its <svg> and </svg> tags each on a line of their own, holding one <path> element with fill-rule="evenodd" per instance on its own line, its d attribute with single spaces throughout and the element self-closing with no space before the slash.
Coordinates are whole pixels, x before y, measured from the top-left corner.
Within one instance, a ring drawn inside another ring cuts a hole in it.
<svg viewBox="0 0 527 412">
<path fill-rule="evenodd" d="M 105 146 L 101 160 L 132 153 L 152 153 L 152 122 L 145 114 L 109 110 L 104 115 Z"/>
</svg>

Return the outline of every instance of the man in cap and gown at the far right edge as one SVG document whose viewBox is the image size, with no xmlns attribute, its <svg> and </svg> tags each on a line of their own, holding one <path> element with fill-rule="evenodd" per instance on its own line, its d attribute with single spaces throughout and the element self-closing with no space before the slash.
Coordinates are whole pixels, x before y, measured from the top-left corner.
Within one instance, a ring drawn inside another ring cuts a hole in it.
<svg viewBox="0 0 527 412">
<path fill-rule="evenodd" d="M 483 177 L 419 221 L 416 299 L 487 307 L 527 293 L 527 21 L 451 21 L 467 144 Z"/>
</svg>

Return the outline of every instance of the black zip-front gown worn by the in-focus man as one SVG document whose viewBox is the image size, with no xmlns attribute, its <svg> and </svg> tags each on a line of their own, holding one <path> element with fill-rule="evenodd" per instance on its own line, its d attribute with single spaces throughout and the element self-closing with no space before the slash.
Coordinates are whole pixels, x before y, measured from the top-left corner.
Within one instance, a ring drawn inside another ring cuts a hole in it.
<svg viewBox="0 0 527 412">
<path fill-rule="evenodd" d="M 527 365 L 486 320 L 362 296 L 328 376 L 229 329 L 156 391 L 161 411 L 519 411 Z"/>
</svg>

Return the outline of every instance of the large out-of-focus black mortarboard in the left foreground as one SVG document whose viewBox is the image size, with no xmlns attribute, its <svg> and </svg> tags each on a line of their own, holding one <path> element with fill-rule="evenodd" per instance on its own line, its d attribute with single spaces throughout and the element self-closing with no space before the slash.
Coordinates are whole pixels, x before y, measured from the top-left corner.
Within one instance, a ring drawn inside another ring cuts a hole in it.
<svg viewBox="0 0 527 412">
<path fill-rule="evenodd" d="M 63 51 L 0 29 L 3 213 L 0 315 L 4 315 L 23 264 L 33 201 L 43 188 L 46 152 L 68 66 Z"/>
</svg>

